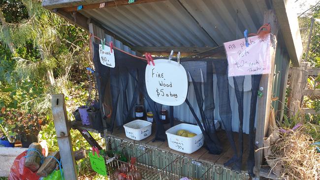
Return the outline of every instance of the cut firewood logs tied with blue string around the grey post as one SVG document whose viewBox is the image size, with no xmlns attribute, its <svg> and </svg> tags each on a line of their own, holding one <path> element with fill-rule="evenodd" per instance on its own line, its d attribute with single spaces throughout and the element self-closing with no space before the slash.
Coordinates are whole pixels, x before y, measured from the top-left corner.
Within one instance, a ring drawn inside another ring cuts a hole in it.
<svg viewBox="0 0 320 180">
<path fill-rule="evenodd" d="M 42 152 L 42 147 L 39 143 L 32 143 L 29 146 L 29 150 L 26 154 L 25 159 L 25 167 L 29 168 L 31 171 L 36 172 L 37 175 L 40 177 L 47 177 L 50 175 L 54 170 L 59 169 L 59 163 L 57 160 L 60 161 L 60 152 L 50 152 L 47 157 L 44 158 L 43 163 L 41 164 L 40 154 Z M 42 154 L 41 154 L 42 155 Z M 55 158 L 53 158 L 55 157 Z M 74 158 L 75 160 L 80 160 L 86 157 L 85 150 L 77 150 L 74 151 Z"/>
</svg>

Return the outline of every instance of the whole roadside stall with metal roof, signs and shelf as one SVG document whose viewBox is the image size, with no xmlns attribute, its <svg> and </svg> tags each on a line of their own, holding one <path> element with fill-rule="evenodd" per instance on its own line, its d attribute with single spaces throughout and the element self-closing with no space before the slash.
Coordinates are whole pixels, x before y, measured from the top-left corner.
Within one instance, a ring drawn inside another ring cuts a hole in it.
<svg viewBox="0 0 320 180">
<path fill-rule="evenodd" d="M 96 172 L 114 180 L 272 178 L 258 149 L 271 108 L 283 116 L 289 60 L 299 66 L 302 55 L 287 1 L 42 5 L 90 33 L 98 95 L 72 127 L 92 145 Z M 52 102 L 58 140 L 67 138 L 64 98 Z M 101 133 L 105 150 L 90 131 Z"/>
</svg>

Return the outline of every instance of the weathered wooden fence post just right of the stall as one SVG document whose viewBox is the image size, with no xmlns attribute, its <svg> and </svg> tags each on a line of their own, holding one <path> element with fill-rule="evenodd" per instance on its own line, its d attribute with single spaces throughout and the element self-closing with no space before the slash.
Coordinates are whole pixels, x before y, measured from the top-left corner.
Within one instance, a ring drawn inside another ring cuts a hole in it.
<svg viewBox="0 0 320 180">
<path fill-rule="evenodd" d="M 288 96 L 289 115 L 292 117 L 303 104 L 303 90 L 307 85 L 308 66 L 310 62 L 301 62 L 300 67 L 291 68 L 290 92 Z"/>
</svg>

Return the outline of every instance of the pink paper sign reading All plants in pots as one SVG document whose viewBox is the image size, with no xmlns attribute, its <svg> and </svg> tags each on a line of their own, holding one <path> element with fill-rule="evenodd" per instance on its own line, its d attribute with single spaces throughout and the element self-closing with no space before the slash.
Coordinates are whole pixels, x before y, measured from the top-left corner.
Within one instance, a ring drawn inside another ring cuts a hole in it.
<svg viewBox="0 0 320 180">
<path fill-rule="evenodd" d="M 228 59 L 228 76 L 269 74 L 271 71 L 270 34 L 265 39 L 258 36 L 224 43 Z"/>
</svg>

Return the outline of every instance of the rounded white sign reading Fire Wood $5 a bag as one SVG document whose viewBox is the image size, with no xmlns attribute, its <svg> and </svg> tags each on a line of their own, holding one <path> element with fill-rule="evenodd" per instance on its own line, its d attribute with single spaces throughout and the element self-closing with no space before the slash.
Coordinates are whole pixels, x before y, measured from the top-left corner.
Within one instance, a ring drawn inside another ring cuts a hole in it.
<svg viewBox="0 0 320 180">
<path fill-rule="evenodd" d="M 168 106 L 184 103 L 188 93 L 185 68 L 173 60 L 154 61 L 155 66 L 147 65 L 146 67 L 146 87 L 150 98 Z"/>
</svg>

